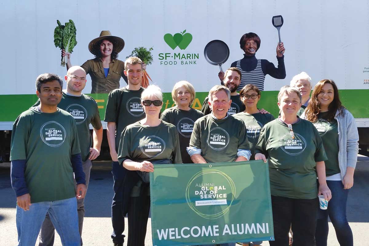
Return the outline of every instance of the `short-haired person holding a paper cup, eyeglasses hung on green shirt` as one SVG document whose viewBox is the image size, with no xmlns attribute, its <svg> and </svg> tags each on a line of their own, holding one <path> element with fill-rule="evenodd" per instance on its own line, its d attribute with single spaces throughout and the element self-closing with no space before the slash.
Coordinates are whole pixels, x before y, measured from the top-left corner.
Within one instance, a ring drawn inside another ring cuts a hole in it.
<svg viewBox="0 0 369 246">
<path fill-rule="evenodd" d="M 270 246 L 289 245 L 292 225 L 294 244 L 314 245 L 318 194 L 330 200 L 325 181 L 327 156 L 314 125 L 300 119 L 300 91 L 283 86 L 278 94 L 279 118 L 261 130 L 255 160 L 269 159 L 270 193 L 275 241 Z M 317 176 L 319 190 L 317 190 Z"/>
</svg>

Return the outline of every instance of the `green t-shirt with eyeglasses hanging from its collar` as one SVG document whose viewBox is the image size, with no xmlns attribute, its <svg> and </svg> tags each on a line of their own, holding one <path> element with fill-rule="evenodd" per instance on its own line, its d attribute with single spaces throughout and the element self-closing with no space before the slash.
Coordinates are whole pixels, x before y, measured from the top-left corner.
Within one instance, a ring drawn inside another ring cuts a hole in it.
<svg viewBox="0 0 369 246">
<path fill-rule="evenodd" d="M 314 199 L 317 193 L 316 162 L 327 160 L 314 125 L 304 119 L 292 124 L 294 139 L 279 119 L 260 132 L 256 153 L 269 158 L 270 193 L 277 197 Z"/>
</svg>

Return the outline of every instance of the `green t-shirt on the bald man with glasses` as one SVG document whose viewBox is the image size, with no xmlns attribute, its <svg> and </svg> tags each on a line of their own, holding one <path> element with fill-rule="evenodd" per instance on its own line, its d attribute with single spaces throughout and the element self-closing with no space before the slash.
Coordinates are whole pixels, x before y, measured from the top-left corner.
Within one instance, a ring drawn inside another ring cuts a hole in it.
<svg viewBox="0 0 369 246">
<path fill-rule="evenodd" d="M 38 106 L 39 104 L 40 100 L 37 100 L 32 107 Z M 86 161 L 90 155 L 90 148 L 93 143 L 90 124 L 98 130 L 102 127 L 96 101 L 83 93 L 81 96 L 76 97 L 63 92 L 58 108 L 67 111 L 75 119 L 82 161 Z"/>
</svg>

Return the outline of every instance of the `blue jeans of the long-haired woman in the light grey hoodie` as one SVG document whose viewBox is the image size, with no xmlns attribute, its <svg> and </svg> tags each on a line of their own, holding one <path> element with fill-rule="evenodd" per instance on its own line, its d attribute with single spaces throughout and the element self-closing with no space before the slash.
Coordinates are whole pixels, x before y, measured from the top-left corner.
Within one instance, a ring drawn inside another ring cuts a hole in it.
<svg viewBox="0 0 369 246">
<path fill-rule="evenodd" d="M 319 185 L 319 184 L 318 184 Z M 336 231 L 339 245 L 352 246 L 354 239 L 346 218 L 346 204 L 349 189 L 345 190 L 341 181 L 327 180 L 332 199 L 328 202 L 327 210 L 319 209 L 315 241 L 317 246 L 327 246 L 328 215 Z"/>
</svg>

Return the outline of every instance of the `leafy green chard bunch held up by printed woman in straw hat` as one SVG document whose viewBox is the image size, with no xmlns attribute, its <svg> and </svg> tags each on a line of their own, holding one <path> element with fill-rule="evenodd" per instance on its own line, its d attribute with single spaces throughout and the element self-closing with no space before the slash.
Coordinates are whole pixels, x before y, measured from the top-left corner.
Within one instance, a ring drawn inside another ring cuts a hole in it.
<svg viewBox="0 0 369 246">
<path fill-rule="evenodd" d="M 56 20 L 58 26 L 54 30 L 55 47 L 64 49 L 65 52 L 72 53 L 74 46 L 77 44 L 76 26 L 72 20 L 62 25 L 59 20 Z M 65 56 L 62 57 L 61 66 L 65 67 Z"/>
</svg>

